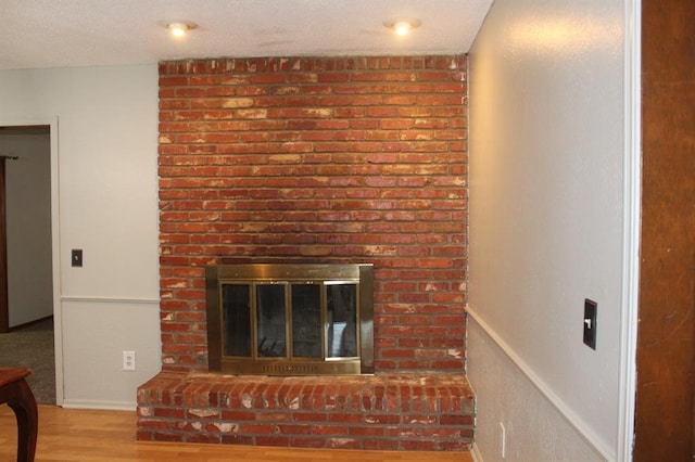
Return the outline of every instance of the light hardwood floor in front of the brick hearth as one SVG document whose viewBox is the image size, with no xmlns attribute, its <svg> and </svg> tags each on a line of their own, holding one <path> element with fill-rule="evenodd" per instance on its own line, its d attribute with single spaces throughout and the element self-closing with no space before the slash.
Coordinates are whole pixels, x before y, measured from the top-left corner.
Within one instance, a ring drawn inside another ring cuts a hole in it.
<svg viewBox="0 0 695 462">
<path fill-rule="evenodd" d="M 39 407 L 37 461 L 172 461 L 197 462 L 472 462 L 468 452 L 357 451 L 251 448 L 220 445 L 142 442 L 135 440 L 136 415 Z M 0 461 L 16 460 L 14 413 L 0 407 Z"/>
</svg>

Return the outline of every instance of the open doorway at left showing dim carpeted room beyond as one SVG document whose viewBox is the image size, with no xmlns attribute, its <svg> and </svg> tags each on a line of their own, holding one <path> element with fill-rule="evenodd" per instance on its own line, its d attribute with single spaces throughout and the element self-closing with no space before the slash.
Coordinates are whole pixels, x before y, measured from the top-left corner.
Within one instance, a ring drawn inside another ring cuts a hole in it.
<svg viewBox="0 0 695 462">
<path fill-rule="evenodd" d="M 55 403 L 51 126 L 0 127 L 0 365 L 31 369 L 39 403 Z"/>
</svg>

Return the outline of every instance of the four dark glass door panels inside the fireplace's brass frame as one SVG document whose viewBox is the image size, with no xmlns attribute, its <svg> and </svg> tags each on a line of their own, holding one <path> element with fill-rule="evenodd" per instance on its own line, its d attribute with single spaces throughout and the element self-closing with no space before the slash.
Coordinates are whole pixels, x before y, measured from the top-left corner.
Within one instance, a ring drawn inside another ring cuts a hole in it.
<svg viewBox="0 0 695 462">
<path fill-rule="evenodd" d="M 250 282 L 223 284 L 222 293 L 225 356 L 251 357 L 252 343 L 256 345 L 255 358 L 357 356 L 356 284 Z M 288 296 L 292 300 L 289 306 Z M 326 300 L 325 307 L 321 300 Z"/>
</svg>

